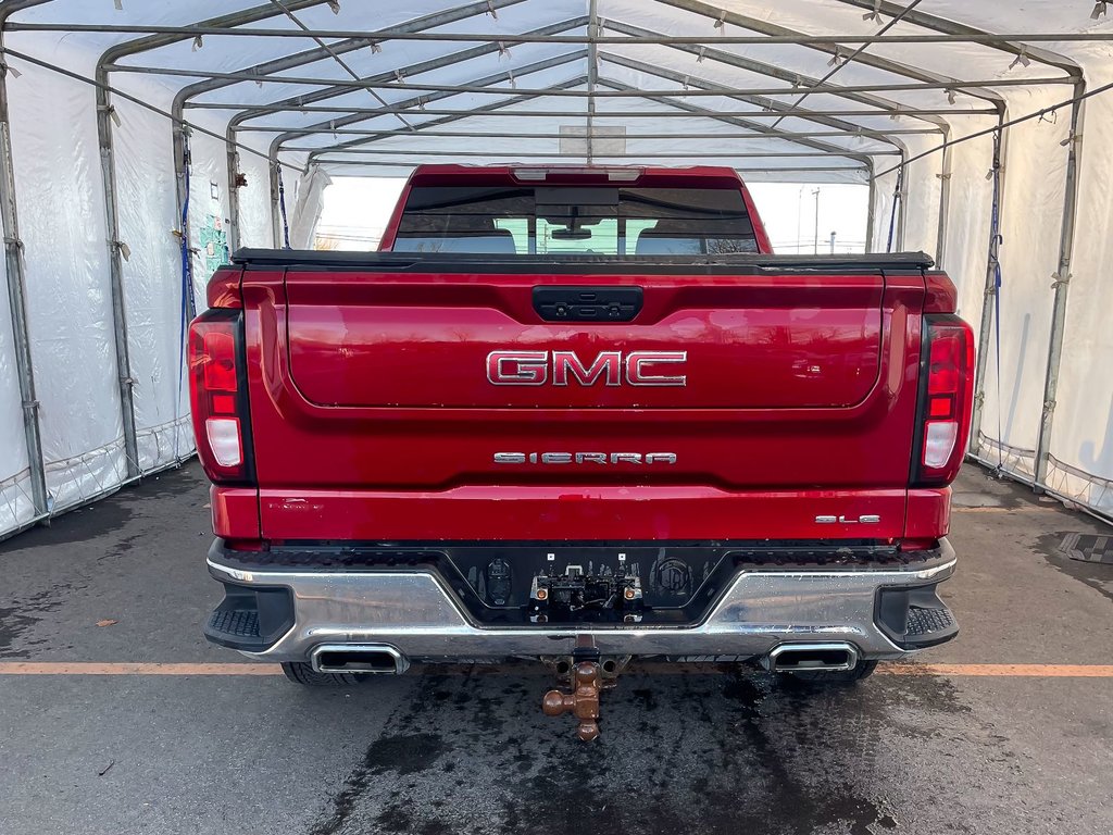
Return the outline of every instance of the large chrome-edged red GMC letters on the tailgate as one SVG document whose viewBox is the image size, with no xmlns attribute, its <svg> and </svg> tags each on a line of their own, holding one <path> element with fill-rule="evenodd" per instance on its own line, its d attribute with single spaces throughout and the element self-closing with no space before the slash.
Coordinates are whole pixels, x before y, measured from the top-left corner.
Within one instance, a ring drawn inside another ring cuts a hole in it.
<svg viewBox="0 0 1113 835">
<path fill-rule="evenodd" d="M 492 385 L 688 385 L 681 371 L 687 351 L 603 351 L 590 364 L 574 351 L 492 351 L 487 381 Z M 679 366 L 679 367 L 678 367 Z"/>
</svg>

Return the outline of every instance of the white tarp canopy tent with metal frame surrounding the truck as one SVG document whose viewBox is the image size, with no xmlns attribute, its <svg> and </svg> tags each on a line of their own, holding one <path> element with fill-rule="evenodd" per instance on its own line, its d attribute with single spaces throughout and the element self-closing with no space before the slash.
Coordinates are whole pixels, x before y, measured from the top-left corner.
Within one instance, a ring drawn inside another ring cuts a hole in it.
<svg viewBox="0 0 1113 835">
<path fill-rule="evenodd" d="M 329 178 L 421 161 L 868 185 L 871 248 L 934 254 L 979 330 L 972 454 L 1113 514 L 1111 19 L 1093 0 L 0 0 L 0 536 L 191 454 L 183 335 L 213 269 L 304 246 Z"/>
</svg>

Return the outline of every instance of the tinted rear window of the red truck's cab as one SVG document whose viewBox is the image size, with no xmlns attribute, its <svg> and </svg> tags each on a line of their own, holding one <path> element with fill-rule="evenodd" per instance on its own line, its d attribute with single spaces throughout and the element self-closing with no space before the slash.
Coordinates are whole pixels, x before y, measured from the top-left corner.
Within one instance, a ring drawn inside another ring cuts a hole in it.
<svg viewBox="0 0 1113 835">
<path fill-rule="evenodd" d="M 737 189 L 415 186 L 392 247 L 487 255 L 756 253 Z"/>
</svg>

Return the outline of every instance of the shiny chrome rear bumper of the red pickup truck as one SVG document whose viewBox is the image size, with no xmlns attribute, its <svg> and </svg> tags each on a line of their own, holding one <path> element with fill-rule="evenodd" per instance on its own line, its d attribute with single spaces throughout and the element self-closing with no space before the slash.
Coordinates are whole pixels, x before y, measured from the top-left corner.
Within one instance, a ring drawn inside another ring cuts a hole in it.
<svg viewBox="0 0 1113 835">
<path fill-rule="evenodd" d="M 556 656 L 571 654 L 578 635 L 590 635 L 604 656 L 760 658 L 784 644 L 845 641 L 874 660 L 907 651 L 879 626 L 880 591 L 934 587 L 954 573 L 955 557 L 943 540 L 939 559 L 922 567 L 743 568 L 708 616 L 684 627 L 480 626 L 443 578 L 424 568 L 246 570 L 214 558 L 208 564 L 223 582 L 289 590 L 292 626 L 268 648 L 245 652 L 257 659 L 307 661 L 323 645 L 390 647 L 416 661 Z"/>
</svg>

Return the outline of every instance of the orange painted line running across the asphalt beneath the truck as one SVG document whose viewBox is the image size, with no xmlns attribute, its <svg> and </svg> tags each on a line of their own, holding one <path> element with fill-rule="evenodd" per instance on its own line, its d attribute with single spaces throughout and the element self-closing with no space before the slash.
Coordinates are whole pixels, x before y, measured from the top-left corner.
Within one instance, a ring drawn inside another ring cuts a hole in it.
<svg viewBox="0 0 1113 835">
<path fill-rule="evenodd" d="M 498 668 L 479 668 L 496 671 Z M 700 671 L 696 665 L 634 665 L 632 672 Z M 709 667 L 707 671 L 715 671 Z M 510 669 L 505 674 L 525 675 Z M 97 661 L 0 661 L 0 676 L 279 676 L 276 664 L 105 664 Z M 883 664 L 877 675 L 996 678 L 1113 678 L 1113 665 L 1100 664 Z"/>
</svg>

